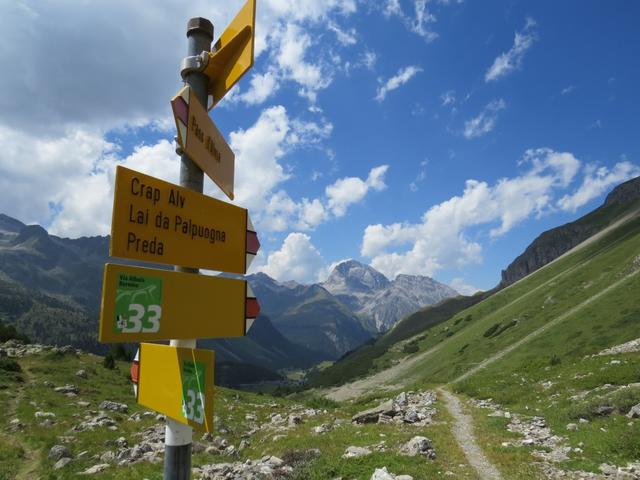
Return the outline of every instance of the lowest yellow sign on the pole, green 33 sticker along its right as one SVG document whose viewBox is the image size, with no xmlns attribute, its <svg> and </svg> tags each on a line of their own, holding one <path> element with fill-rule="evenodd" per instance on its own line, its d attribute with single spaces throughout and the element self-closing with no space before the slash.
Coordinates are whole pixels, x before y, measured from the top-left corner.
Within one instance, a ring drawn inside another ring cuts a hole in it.
<svg viewBox="0 0 640 480">
<path fill-rule="evenodd" d="M 213 430 L 212 350 L 141 343 L 138 403 L 196 430 Z"/>
</svg>

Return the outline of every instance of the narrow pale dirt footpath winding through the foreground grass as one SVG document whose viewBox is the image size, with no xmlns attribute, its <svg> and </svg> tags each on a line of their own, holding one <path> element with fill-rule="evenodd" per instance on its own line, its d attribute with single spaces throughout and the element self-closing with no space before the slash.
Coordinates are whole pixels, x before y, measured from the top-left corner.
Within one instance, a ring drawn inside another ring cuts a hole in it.
<svg viewBox="0 0 640 480">
<path fill-rule="evenodd" d="M 438 389 L 444 406 L 455 420 L 453 436 L 462 448 L 469 464 L 478 472 L 481 480 L 499 480 L 502 478 L 498 469 L 485 457 L 473 434 L 473 419 L 464 412 L 458 397 L 453 393 Z"/>
</svg>

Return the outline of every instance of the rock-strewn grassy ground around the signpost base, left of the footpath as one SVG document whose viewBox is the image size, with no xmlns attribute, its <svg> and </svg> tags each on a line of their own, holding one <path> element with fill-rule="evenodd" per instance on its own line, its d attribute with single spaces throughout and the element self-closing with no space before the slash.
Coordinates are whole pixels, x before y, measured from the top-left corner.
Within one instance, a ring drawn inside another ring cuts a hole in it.
<svg viewBox="0 0 640 480">
<path fill-rule="evenodd" d="M 4 412 L 0 417 L 0 479 L 72 479 L 98 464 L 107 467 L 92 475 L 96 479 L 162 478 L 163 448 L 150 447 L 148 442 L 153 438 L 161 441 L 164 421 L 135 404 L 127 363 L 118 362 L 110 370 L 102 362 L 95 355 L 55 351 L 0 359 L 0 409 Z M 81 369 L 86 377 L 76 375 Z M 68 384 L 77 388 L 76 394 L 54 389 Z M 105 411 L 100 408 L 104 400 L 126 404 L 128 411 Z M 197 453 L 193 455 L 193 466 L 234 462 L 241 465 L 275 455 L 291 467 L 277 477 L 280 479 L 369 480 L 374 469 L 382 466 L 416 479 L 435 478 L 444 471 L 476 478 L 448 430 L 446 411 L 437 404 L 435 422 L 427 427 L 350 423 L 354 413 L 379 401 L 370 397 L 339 406 L 318 398 L 294 401 L 218 388 L 216 431 L 209 438 L 194 435 Z M 299 420 L 290 423 L 288 416 L 292 414 Z M 109 417 L 112 426 L 77 431 L 83 421 L 100 415 Z M 320 425 L 326 425 L 328 431 L 315 433 Z M 402 443 L 418 434 L 433 439 L 435 460 L 398 453 Z M 125 443 L 128 448 L 123 446 Z M 224 447 L 218 448 L 222 444 Z M 48 458 L 54 445 L 65 446 L 71 456 L 71 462 L 59 470 L 53 470 L 56 460 Z M 352 445 L 377 445 L 381 451 L 343 459 L 346 448 Z M 128 461 L 132 450 L 146 452 L 156 463 Z M 193 478 L 198 478 L 195 470 Z"/>
</svg>

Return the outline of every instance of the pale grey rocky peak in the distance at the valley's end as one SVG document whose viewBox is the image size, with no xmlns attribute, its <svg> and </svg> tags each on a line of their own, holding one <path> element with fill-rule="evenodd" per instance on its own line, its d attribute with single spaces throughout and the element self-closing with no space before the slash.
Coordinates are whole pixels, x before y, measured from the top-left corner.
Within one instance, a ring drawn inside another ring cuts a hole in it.
<svg viewBox="0 0 640 480">
<path fill-rule="evenodd" d="M 349 260 L 336 266 L 322 286 L 383 332 L 426 305 L 458 295 L 451 287 L 421 275 L 389 281 L 368 265 Z"/>
</svg>

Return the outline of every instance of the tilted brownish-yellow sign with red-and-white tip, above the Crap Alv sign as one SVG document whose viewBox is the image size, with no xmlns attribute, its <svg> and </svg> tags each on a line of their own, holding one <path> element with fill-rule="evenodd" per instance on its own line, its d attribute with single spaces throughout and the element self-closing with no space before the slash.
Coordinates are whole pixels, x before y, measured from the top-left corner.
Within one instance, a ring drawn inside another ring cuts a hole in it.
<svg viewBox="0 0 640 480">
<path fill-rule="evenodd" d="M 235 155 L 188 85 L 171 99 L 184 153 L 233 200 Z"/>
</svg>

